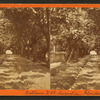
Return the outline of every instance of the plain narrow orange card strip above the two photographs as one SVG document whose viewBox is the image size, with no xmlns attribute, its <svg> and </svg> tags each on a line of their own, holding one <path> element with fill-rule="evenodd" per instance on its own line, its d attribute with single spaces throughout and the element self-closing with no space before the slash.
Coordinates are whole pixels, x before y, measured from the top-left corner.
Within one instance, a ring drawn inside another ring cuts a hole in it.
<svg viewBox="0 0 100 100">
<path fill-rule="evenodd" d="M 100 4 L 0 4 L 0 7 L 94 7 L 99 8 Z"/>
</svg>

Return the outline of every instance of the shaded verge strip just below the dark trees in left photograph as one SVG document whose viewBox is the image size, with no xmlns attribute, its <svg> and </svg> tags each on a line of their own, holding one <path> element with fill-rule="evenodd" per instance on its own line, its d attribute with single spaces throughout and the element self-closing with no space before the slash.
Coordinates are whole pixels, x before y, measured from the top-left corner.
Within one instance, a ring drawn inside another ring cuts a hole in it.
<svg viewBox="0 0 100 100">
<path fill-rule="evenodd" d="M 40 73 L 49 72 L 49 68 L 46 66 L 46 63 L 44 62 L 32 62 L 31 60 L 23 57 L 16 57 L 15 59 L 21 66 L 22 71 L 34 71 Z"/>
</svg>

